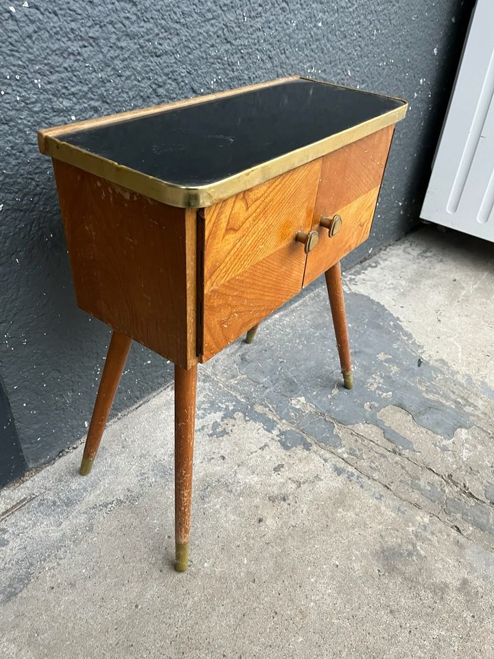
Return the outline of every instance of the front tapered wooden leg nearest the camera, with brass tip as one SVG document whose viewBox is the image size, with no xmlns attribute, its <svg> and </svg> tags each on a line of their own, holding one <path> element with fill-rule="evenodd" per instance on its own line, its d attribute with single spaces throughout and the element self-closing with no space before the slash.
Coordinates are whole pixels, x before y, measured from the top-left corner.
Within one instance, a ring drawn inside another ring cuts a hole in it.
<svg viewBox="0 0 494 659">
<path fill-rule="evenodd" d="M 192 461 L 196 424 L 197 366 L 175 366 L 175 569 L 185 572 L 189 562 L 192 500 Z"/>
</svg>

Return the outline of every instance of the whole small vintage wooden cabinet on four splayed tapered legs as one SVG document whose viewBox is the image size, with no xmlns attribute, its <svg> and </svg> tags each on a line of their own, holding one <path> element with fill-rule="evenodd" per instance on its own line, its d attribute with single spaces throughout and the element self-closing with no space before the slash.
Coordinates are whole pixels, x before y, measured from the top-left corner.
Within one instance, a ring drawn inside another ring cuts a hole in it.
<svg viewBox="0 0 494 659">
<path fill-rule="evenodd" d="M 78 305 L 113 329 L 80 472 L 132 340 L 175 364 L 176 569 L 187 568 L 196 369 L 325 273 L 344 384 L 340 259 L 371 229 L 399 99 L 285 78 L 40 130 Z"/>
</svg>

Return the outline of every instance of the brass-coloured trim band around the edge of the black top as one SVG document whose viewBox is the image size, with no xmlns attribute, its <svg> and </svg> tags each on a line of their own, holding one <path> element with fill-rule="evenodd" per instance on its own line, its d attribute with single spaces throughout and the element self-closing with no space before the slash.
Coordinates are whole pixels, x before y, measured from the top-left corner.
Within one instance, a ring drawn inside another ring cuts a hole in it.
<svg viewBox="0 0 494 659">
<path fill-rule="evenodd" d="M 280 80 L 274 80 L 270 83 L 247 86 L 232 91 L 242 93 L 242 91 L 248 89 L 267 86 L 268 84 L 277 84 L 281 80 L 293 80 L 298 77 L 299 76 L 284 79 L 281 78 Z M 231 93 L 231 91 L 222 92 L 220 95 L 228 95 L 228 93 Z M 204 102 L 205 100 L 211 100 L 212 96 L 218 97 L 218 95 L 213 94 L 199 97 L 198 99 L 190 99 L 189 101 L 191 103 Z M 171 109 L 172 106 L 177 107 L 181 103 L 182 102 L 178 102 L 177 104 L 167 104 L 166 106 L 155 106 L 155 108 L 148 109 L 150 112 L 154 111 L 156 113 L 161 112 L 166 108 Z M 70 132 L 72 132 L 74 130 L 73 126 L 76 126 L 76 124 L 40 130 L 38 132 L 38 143 L 42 153 L 57 160 L 61 160 L 69 165 L 79 167 L 90 174 L 95 174 L 95 176 L 101 176 L 107 181 L 110 181 L 110 183 L 116 183 L 117 185 L 121 185 L 121 187 L 126 187 L 132 192 L 143 194 L 151 199 L 170 206 L 181 208 L 204 208 L 228 197 L 234 196 L 239 192 L 244 192 L 244 190 L 255 187 L 255 185 L 264 183 L 265 181 L 270 180 L 270 178 L 285 174 L 285 172 L 293 170 L 295 167 L 305 165 L 305 163 L 316 160 L 327 153 L 336 151 L 347 144 L 362 139 L 362 137 L 367 137 L 367 135 L 371 135 L 371 133 L 377 132 L 377 130 L 381 130 L 381 128 L 386 128 L 386 126 L 395 124 L 405 117 L 407 108 L 408 103 L 403 101 L 402 106 L 395 108 L 384 115 L 379 115 L 379 117 L 374 117 L 362 124 L 357 124 L 357 126 L 352 126 L 351 128 L 342 130 L 335 135 L 330 135 L 329 137 L 325 137 L 317 142 L 283 154 L 270 161 L 255 165 L 255 167 L 250 167 L 248 170 L 238 172 L 233 176 L 228 176 L 228 178 L 224 178 L 221 181 L 214 181 L 213 183 L 198 187 L 185 187 L 177 185 L 176 183 L 167 183 L 167 181 L 162 181 L 159 178 L 154 178 L 154 176 L 149 176 L 148 174 L 143 174 L 143 172 L 132 170 L 125 165 L 119 165 L 119 163 L 116 163 L 115 161 L 108 160 L 55 137 L 55 135 L 61 135 L 63 132 L 69 132 L 69 130 L 61 130 L 62 128 L 70 127 Z M 132 112 L 133 111 L 131 111 L 131 113 Z M 141 112 L 145 113 L 145 111 Z M 103 119 L 108 119 L 107 123 L 113 123 L 121 120 L 121 117 L 124 117 L 124 115 L 128 118 L 131 113 L 121 113 L 121 115 L 112 115 L 111 117 L 104 117 Z M 89 122 L 80 122 L 79 125 L 86 124 L 86 127 L 89 128 L 95 125 L 95 121 L 101 122 L 102 120 L 90 119 Z M 91 126 L 87 126 L 87 124 L 91 124 Z M 99 125 L 101 125 L 101 123 Z M 57 130 L 59 131 L 58 133 L 56 132 Z"/>
</svg>

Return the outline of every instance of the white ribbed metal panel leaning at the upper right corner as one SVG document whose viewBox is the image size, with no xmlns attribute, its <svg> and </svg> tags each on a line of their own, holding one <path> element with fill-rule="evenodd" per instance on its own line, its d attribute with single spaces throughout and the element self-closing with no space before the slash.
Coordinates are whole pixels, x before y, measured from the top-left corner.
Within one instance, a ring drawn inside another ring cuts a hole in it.
<svg viewBox="0 0 494 659">
<path fill-rule="evenodd" d="M 494 2 L 478 0 L 421 217 L 494 242 Z"/>
</svg>

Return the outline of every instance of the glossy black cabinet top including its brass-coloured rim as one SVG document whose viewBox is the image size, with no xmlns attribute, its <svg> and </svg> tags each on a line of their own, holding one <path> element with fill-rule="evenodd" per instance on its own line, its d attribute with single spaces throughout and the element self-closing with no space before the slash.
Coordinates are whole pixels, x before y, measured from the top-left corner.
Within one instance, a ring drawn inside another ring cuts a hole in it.
<svg viewBox="0 0 494 659">
<path fill-rule="evenodd" d="M 134 192 L 208 206 L 402 119 L 405 101 L 285 78 L 39 133 L 40 150 Z"/>
</svg>

